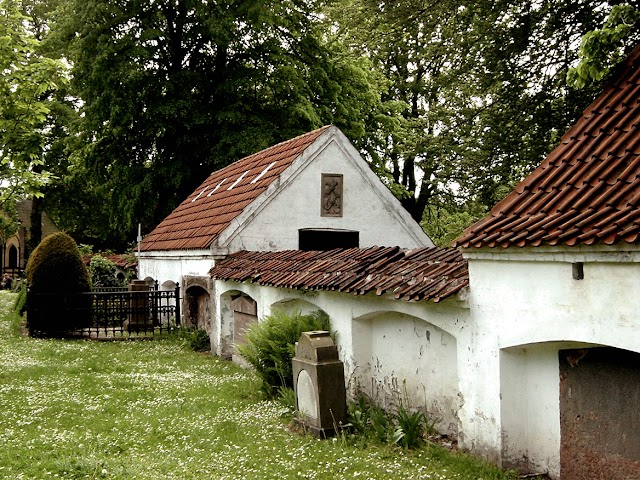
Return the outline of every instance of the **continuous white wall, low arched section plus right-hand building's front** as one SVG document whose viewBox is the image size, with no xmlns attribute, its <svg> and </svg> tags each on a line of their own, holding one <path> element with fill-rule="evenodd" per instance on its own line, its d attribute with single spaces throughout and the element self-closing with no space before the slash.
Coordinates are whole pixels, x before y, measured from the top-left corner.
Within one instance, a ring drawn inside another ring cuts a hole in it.
<svg viewBox="0 0 640 480">
<path fill-rule="evenodd" d="M 560 477 L 559 351 L 640 352 L 640 251 L 633 247 L 465 252 L 470 287 L 439 304 L 216 281 L 214 352 L 228 354 L 228 296 L 322 309 L 348 392 L 393 408 L 406 392 L 442 433 L 505 467 Z M 584 279 L 572 275 L 582 262 Z M 231 316 L 230 316 L 231 315 Z"/>
</svg>

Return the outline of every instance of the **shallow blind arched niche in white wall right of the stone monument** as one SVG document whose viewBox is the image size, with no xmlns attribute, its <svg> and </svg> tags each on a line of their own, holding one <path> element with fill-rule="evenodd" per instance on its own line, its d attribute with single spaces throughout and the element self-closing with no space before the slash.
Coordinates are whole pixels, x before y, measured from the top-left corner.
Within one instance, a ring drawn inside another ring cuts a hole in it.
<svg viewBox="0 0 640 480">
<path fill-rule="evenodd" d="M 394 311 L 352 322 L 349 389 L 393 410 L 402 402 L 456 436 L 461 397 L 455 337 L 426 320 Z"/>
</svg>

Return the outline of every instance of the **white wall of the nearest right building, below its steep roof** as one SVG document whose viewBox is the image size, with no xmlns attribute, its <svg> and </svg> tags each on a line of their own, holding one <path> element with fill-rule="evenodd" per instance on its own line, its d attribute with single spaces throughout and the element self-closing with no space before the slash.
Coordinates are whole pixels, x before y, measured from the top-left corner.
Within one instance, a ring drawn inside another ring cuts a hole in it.
<svg viewBox="0 0 640 480">
<path fill-rule="evenodd" d="M 640 255 L 625 248 L 466 252 L 463 447 L 558 478 L 558 351 L 640 352 Z M 583 280 L 573 279 L 573 262 L 584 262 Z"/>
</svg>

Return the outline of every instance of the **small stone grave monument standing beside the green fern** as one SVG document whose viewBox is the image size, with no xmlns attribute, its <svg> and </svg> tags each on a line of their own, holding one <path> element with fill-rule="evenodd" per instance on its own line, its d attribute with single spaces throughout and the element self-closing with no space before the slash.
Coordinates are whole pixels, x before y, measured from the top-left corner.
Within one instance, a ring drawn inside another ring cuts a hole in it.
<svg viewBox="0 0 640 480">
<path fill-rule="evenodd" d="M 347 420 L 344 365 L 329 332 L 303 332 L 292 360 L 300 421 L 321 438 Z"/>
</svg>

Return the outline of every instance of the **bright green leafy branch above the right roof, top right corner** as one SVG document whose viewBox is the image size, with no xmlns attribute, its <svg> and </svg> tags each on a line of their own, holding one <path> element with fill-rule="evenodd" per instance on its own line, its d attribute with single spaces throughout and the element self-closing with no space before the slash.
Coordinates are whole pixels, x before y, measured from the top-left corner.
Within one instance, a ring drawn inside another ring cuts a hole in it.
<svg viewBox="0 0 640 480">
<path fill-rule="evenodd" d="M 602 28 L 582 37 L 580 62 L 567 72 L 567 83 L 575 88 L 584 88 L 593 81 L 602 80 L 614 65 L 624 59 L 625 41 L 634 33 L 631 46 L 638 40 L 636 23 L 639 18 L 640 12 L 633 6 L 627 3 L 615 5 Z"/>
</svg>

